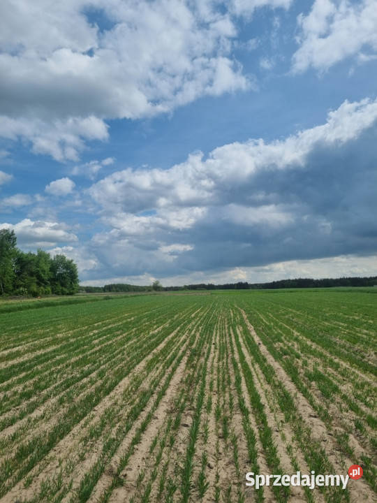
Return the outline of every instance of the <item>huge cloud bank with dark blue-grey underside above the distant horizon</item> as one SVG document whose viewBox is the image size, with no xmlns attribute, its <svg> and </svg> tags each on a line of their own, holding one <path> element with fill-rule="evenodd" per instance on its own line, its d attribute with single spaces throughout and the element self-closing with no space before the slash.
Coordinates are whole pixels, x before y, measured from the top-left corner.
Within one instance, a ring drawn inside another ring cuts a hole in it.
<svg viewBox="0 0 377 503">
<path fill-rule="evenodd" d="M 325 124 L 283 140 L 232 143 L 166 170 L 104 177 L 88 190 L 104 227 L 91 242 L 95 274 L 188 277 L 371 254 L 376 122 L 377 100 L 345 101 Z"/>
</svg>

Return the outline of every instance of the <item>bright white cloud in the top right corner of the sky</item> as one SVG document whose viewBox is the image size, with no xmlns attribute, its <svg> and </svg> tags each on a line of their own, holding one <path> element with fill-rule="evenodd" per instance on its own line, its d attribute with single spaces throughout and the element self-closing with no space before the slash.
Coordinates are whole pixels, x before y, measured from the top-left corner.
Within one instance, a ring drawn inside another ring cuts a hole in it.
<svg viewBox="0 0 377 503">
<path fill-rule="evenodd" d="M 316 0 L 307 16 L 298 17 L 298 24 L 301 34 L 300 48 L 293 56 L 295 73 L 310 66 L 327 70 L 364 48 L 377 52 L 377 0 Z"/>
</svg>

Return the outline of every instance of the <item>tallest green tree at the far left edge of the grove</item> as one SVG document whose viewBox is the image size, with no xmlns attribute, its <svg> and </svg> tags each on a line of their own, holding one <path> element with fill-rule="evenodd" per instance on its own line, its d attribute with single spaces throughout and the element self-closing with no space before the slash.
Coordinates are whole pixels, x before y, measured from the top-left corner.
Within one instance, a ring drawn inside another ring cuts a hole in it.
<svg viewBox="0 0 377 503">
<path fill-rule="evenodd" d="M 0 293 L 13 293 L 15 281 L 14 261 L 17 252 L 17 238 L 14 231 L 0 229 Z"/>
</svg>

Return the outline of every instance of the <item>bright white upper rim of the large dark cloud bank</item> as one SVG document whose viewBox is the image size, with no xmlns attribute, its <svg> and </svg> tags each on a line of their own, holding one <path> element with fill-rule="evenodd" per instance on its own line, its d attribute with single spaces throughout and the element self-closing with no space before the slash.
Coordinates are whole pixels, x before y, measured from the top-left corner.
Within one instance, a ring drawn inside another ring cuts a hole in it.
<svg viewBox="0 0 377 503">
<path fill-rule="evenodd" d="M 109 214 L 124 212 L 123 228 L 130 232 L 145 232 L 145 228 L 161 226 L 162 222 L 187 228 L 204 217 L 206 207 L 226 204 L 230 187 L 235 190 L 250 184 L 263 170 L 304 166 L 306 157 L 318 145 L 335 146 L 353 140 L 376 120 L 377 100 L 345 101 L 329 112 L 325 124 L 285 140 L 223 145 L 210 152 L 206 160 L 201 153 L 192 154 L 186 162 L 168 170 L 118 171 L 92 185 L 89 194 Z M 146 210 L 156 214 L 135 215 Z"/>
</svg>

